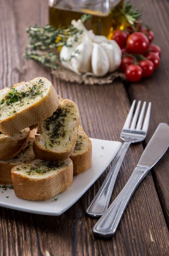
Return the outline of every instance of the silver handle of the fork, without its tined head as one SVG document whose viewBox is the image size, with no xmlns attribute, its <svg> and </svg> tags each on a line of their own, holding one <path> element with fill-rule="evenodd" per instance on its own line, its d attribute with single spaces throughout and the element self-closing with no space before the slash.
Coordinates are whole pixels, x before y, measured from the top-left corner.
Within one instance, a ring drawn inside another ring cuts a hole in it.
<svg viewBox="0 0 169 256">
<path fill-rule="evenodd" d="M 99 217 L 103 215 L 104 212 L 106 212 L 109 206 L 110 198 L 113 192 L 113 187 L 115 184 L 116 177 L 118 175 L 118 171 L 121 167 L 121 164 L 124 160 L 124 156 L 130 144 L 130 142 L 124 142 L 120 150 L 118 151 L 113 166 L 111 167 L 108 175 L 106 176 L 103 184 L 101 185 L 101 188 L 99 189 L 97 195 L 95 196 L 95 198 L 86 210 L 88 215 L 93 217 Z"/>
</svg>

